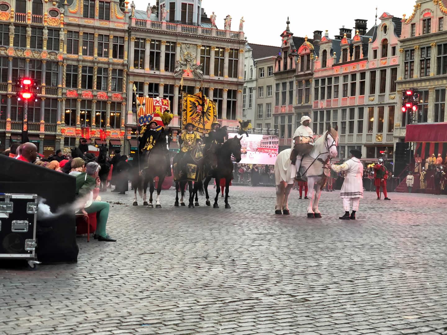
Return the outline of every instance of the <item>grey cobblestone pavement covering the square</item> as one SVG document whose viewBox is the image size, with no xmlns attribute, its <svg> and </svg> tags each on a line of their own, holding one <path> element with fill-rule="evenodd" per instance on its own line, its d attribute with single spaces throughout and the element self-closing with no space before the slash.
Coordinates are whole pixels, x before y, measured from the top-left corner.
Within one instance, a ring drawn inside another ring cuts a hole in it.
<svg viewBox="0 0 447 335">
<path fill-rule="evenodd" d="M 211 188 L 214 193 L 214 190 Z M 108 232 L 78 238 L 77 264 L 0 270 L 0 334 L 447 334 L 447 197 L 366 193 L 341 221 L 274 215 L 274 188 L 231 187 L 232 209 L 133 207 Z"/>
</svg>

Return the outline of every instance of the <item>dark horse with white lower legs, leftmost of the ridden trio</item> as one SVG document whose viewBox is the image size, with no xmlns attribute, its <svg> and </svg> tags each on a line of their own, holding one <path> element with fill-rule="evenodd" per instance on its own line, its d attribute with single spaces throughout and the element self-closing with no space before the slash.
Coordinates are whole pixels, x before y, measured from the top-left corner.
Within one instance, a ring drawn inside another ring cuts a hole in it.
<svg viewBox="0 0 447 335">
<path fill-rule="evenodd" d="M 148 208 L 154 208 L 152 204 L 152 193 L 154 193 L 155 182 L 154 178 L 158 177 L 157 198 L 155 208 L 161 208 L 160 193 L 161 185 L 166 177 L 168 162 L 166 155 L 168 154 L 168 136 L 162 132 L 160 137 L 155 142 L 151 151 L 146 151 L 140 156 L 135 156 L 132 160 L 132 187 L 134 188 L 134 202 L 132 205 L 137 206 L 137 189 L 140 197 L 143 197 L 143 205 Z M 146 201 L 146 191 L 149 186 L 149 203 Z"/>
</svg>

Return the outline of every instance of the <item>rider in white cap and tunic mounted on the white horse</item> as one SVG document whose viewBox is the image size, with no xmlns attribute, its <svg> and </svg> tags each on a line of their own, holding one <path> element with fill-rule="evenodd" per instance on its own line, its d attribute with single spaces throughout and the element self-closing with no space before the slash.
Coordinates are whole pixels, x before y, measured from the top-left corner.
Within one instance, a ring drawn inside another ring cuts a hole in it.
<svg viewBox="0 0 447 335">
<path fill-rule="evenodd" d="M 312 120 L 307 115 L 301 117 L 301 126 L 299 126 L 293 134 L 290 160 L 292 161 L 292 165 L 295 165 L 296 172 L 299 172 L 301 157 L 303 157 L 304 154 L 308 154 L 313 148 L 314 136 L 312 129 L 309 127 L 310 122 L 312 122 Z M 292 173 L 295 173 L 295 169 L 291 170 Z"/>
</svg>

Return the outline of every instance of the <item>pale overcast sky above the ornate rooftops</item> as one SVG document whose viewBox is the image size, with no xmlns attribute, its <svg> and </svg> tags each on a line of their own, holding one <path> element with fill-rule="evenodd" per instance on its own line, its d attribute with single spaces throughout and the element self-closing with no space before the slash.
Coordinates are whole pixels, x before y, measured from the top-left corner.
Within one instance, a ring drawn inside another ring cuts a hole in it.
<svg viewBox="0 0 447 335">
<path fill-rule="evenodd" d="M 155 0 L 150 1 L 155 4 Z M 247 40 L 252 43 L 280 46 L 279 35 L 286 28 L 287 16 L 294 36 L 312 38 L 314 30 L 329 30 L 329 37 L 338 34 L 344 25 L 354 27 L 354 19 L 368 20 L 368 29 L 374 25 L 375 7 L 377 21 L 382 13 L 388 12 L 395 17 L 407 17 L 413 13 L 414 0 L 202 0 L 202 6 L 208 17 L 214 11 L 216 24 L 223 29 L 223 19 L 230 14 L 232 30 L 239 29 L 240 17 L 244 16 L 244 31 Z M 135 0 L 136 9 L 146 10 L 148 1 Z"/>
</svg>

